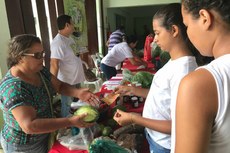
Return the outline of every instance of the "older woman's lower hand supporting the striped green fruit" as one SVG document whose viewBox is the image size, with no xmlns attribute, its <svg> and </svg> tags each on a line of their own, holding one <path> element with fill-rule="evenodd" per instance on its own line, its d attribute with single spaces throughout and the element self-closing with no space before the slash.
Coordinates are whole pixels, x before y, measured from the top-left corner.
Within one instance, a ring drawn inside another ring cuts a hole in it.
<svg viewBox="0 0 230 153">
<path fill-rule="evenodd" d="M 69 121 L 70 121 L 71 125 L 78 127 L 78 128 L 90 127 L 90 126 L 94 125 L 95 123 L 84 122 L 83 119 L 86 116 L 87 116 L 87 113 L 81 114 L 81 115 L 74 115 L 74 116 L 69 118 Z"/>
</svg>

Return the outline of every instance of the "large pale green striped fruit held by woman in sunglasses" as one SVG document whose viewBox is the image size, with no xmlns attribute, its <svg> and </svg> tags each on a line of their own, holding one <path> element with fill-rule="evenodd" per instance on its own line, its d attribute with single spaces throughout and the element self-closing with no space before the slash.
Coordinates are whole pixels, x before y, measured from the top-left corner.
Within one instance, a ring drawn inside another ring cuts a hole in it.
<svg viewBox="0 0 230 153">
<path fill-rule="evenodd" d="M 83 118 L 85 122 L 96 122 L 99 118 L 99 112 L 93 106 L 81 106 L 75 111 L 74 115 L 82 115 L 85 113 L 87 113 L 87 116 Z"/>
</svg>

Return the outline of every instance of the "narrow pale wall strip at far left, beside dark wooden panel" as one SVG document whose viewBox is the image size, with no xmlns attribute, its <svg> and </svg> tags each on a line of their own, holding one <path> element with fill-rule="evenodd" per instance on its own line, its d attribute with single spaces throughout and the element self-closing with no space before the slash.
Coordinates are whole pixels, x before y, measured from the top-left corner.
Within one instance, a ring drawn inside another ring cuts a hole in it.
<svg viewBox="0 0 230 153">
<path fill-rule="evenodd" d="M 7 72 L 6 56 L 7 45 L 10 39 L 10 31 L 6 14 L 5 1 L 0 1 L 0 80 Z"/>
</svg>

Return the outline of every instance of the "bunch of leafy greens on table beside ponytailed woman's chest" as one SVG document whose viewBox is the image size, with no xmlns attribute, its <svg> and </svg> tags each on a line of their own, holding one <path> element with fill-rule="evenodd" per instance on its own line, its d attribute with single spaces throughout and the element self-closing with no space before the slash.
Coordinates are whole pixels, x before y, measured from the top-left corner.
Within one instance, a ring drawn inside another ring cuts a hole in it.
<svg viewBox="0 0 230 153">
<path fill-rule="evenodd" d="M 141 83 L 143 88 L 150 88 L 153 80 L 153 74 L 145 71 L 137 72 L 133 77 L 131 82 Z"/>
</svg>

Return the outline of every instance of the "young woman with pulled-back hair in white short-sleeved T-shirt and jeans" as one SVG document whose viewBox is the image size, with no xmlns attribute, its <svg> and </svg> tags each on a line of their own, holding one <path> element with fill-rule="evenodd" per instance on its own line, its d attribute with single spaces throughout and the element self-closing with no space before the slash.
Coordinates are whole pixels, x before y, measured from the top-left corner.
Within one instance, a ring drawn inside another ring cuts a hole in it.
<svg viewBox="0 0 230 153">
<path fill-rule="evenodd" d="M 188 40 L 180 10 L 179 3 L 172 3 L 153 16 L 154 41 L 171 59 L 155 73 L 150 89 L 118 86 L 114 91 L 146 98 L 142 116 L 117 110 L 114 120 L 122 126 L 134 123 L 146 127 L 151 153 L 170 153 L 171 103 L 176 101 L 181 79 L 197 68 L 192 54 L 195 48 Z"/>
</svg>

